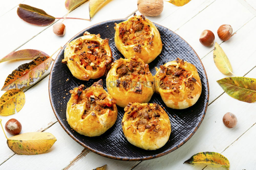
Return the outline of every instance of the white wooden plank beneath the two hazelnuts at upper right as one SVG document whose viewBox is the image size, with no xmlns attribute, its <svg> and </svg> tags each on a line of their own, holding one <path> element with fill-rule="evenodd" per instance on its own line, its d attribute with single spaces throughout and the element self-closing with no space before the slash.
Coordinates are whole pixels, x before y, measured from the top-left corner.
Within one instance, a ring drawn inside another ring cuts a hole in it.
<svg viewBox="0 0 256 170">
<path fill-rule="evenodd" d="M 238 1 L 232 1 L 232 5 L 230 5 L 229 0 L 216 0 L 206 9 L 202 10 L 199 15 L 196 15 L 176 31 L 178 35 L 183 37 L 194 48 L 200 58 L 206 56 L 214 48 L 213 46 L 205 47 L 199 42 L 199 37 L 203 30 L 211 30 L 215 34 L 215 41 L 220 44 L 222 41 L 217 35 L 220 25 L 230 24 L 233 32 L 236 32 L 254 17 Z M 235 41 L 234 37 L 230 38 L 230 41 Z"/>
</svg>

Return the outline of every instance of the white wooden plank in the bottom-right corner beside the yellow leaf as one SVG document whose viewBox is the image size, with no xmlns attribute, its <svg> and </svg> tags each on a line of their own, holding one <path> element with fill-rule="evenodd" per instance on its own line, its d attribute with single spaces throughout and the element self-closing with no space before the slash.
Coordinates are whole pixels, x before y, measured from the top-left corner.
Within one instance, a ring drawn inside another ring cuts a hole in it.
<svg viewBox="0 0 256 170">
<path fill-rule="evenodd" d="M 255 150 L 256 150 L 256 125 L 253 125 L 237 141 L 232 143 L 221 154 L 228 158 L 230 169 L 253 169 L 256 167 Z M 207 166 L 204 170 L 214 170 L 216 168 Z M 218 168 L 221 170 L 224 168 Z M 226 168 L 225 168 L 226 169 Z"/>
</svg>

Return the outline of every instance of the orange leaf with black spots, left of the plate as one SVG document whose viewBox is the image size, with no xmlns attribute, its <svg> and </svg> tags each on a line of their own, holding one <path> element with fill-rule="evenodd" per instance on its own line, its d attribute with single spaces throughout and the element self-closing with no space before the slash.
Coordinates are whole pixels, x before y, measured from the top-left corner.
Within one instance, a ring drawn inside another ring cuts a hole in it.
<svg viewBox="0 0 256 170">
<path fill-rule="evenodd" d="M 34 84 L 49 69 L 51 62 L 51 57 L 44 56 L 20 65 L 7 76 L 2 90 L 22 88 Z"/>
</svg>

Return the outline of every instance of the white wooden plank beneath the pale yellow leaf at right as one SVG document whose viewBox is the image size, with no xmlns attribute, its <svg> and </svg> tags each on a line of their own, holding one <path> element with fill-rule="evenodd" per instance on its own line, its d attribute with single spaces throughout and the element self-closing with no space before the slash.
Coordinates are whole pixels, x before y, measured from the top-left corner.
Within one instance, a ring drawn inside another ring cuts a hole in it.
<svg viewBox="0 0 256 170">
<path fill-rule="evenodd" d="M 229 41 L 222 43 L 220 46 L 227 54 L 233 68 L 233 73 L 237 76 L 244 76 L 253 67 L 256 66 L 256 17 L 248 22 L 244 27 L 237 31 Z M 213 52 L 211 51 L 202 59 L 209 80 L 210 96 L 209 103 L 214 101 L 223 93 L 222 88 L 216 82 L 232 74 L 222 74 L 214 64 Z"/>
</svg>

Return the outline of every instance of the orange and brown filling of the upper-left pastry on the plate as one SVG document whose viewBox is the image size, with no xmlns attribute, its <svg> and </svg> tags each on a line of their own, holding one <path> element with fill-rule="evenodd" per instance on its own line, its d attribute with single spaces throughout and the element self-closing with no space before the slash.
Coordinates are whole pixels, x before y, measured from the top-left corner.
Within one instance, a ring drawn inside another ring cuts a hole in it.
<svg viewBox="0 0 256 170">
<path fill-rule="evenodd" d="M 99 35 L 98 35 L 99 36 Z M 79 41 L 79 39 L 78 39 Z M 108 40 L 103 40 L 108 41 Z M 69 60 L 74 60 L 78 57 L 79 60 L 75 60 L 80 63 L 86 70 L 101 69 L 99 66 L 102 61 L 105 61 L 105 66 L 109 65 L 113 58 L 108 56 L 102 45 L 95 41 L 83 41 L 76 45 L 74 49 L 75 55 L 72 55 Z M 62 60 L 63 63 L 67 62 L 67 58 Z"/>
</svg>

